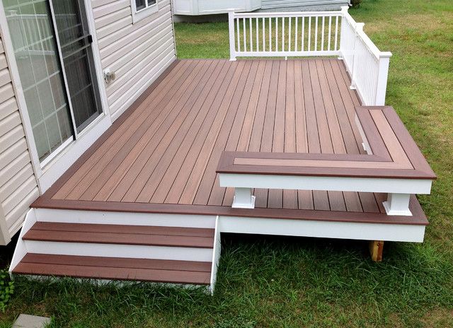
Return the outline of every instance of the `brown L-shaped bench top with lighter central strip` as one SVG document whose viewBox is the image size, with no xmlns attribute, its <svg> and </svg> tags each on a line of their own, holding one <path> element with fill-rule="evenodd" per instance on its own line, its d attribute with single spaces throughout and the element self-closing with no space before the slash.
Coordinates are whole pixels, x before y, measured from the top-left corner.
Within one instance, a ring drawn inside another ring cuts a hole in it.
<svg viewBox="0 0 453 328">
<path fill-rule="evenodd" d="M 372 155 L 225 151 L 217 173 L 435 180 L 393 107 L 361 106 L 356 112 Z"/>
</svg>

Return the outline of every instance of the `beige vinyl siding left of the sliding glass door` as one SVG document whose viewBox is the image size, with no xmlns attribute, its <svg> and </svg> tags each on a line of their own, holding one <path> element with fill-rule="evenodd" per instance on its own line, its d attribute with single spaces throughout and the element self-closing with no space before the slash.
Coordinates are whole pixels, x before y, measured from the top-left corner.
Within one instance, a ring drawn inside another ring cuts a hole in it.
<svg viewBox="0 0 453 328">
<path fill-rule="evenodd" d="M 30 204 L 38 197 L 38 183 L 0 40 L 0 244 L 6 244 L 21 228 Z"/>
</svg>

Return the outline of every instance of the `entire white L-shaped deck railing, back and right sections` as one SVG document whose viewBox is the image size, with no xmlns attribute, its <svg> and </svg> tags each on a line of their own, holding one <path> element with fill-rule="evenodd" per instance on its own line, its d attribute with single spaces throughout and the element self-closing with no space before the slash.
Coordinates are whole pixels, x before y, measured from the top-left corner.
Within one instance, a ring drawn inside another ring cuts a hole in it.
<svg viewBox="0 0 453 328">
<path fill-rule="evenodd" d="M 341 11 L 234 13 L 229 11 L 230 60 L 236 57 L 338 56 L 364 105 L 384 105 L 391 52 L 381 52 Z"/>
</svg>

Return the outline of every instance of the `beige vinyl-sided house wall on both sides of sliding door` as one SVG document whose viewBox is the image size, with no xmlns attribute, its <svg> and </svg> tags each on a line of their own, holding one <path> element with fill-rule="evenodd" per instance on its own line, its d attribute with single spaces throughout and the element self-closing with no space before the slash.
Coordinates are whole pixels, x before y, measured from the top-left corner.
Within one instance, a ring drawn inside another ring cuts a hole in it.
<svg viewBox="0 0 453 328">
<path fill-rule="evenodd" d="M 114 120 L 176 59 L 170 0 L 158 0 L 159 11 L 136 23 L 130 0 L 92 0 L 91 6 L 102 69 L 116 74 L 115 81 L 105 84 L 104 110 Z M 0 37 L 0 245 L 21 228 L 30 204 L 40 196 L 21 119 L 25 110 L 19 112 Z M 54 165 L 59 169 L 70 163 Z"/>
</svg>

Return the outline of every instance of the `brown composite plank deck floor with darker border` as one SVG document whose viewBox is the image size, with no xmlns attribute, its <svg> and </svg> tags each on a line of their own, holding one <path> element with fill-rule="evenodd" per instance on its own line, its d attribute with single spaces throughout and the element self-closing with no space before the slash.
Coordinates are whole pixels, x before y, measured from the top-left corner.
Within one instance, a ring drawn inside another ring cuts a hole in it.
<svg viewBox="0 0 453 328">
<path fill-rule="evenodd" d="M 383 220 L 384 194 L 256 189 L 241 210 L 219 187 L 224 151 L 365 154 L 349 86 L 338 59 L 177 61 L 33 206 Z"/>
</svg>

